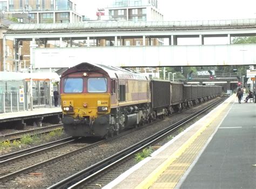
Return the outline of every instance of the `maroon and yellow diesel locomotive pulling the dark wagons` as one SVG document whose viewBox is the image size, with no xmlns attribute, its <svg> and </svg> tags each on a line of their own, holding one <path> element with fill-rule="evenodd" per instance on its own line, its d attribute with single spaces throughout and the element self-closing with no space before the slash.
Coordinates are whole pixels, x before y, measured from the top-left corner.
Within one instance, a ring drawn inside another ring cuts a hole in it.
<svg viewBox="0 0 256 189">
<path fill-rule="evenodd" d="M 65 132 L 73 137 L 113 136 L 153 119 L 150 79 L 119 67 L 82 63 L 60 79 Z"/>
</svg>

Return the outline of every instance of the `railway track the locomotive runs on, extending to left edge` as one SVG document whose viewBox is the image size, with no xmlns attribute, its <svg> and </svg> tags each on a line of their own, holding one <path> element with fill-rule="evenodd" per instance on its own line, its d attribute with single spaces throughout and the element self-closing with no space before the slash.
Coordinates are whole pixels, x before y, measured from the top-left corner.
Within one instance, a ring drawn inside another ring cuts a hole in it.
<svg viewBox="0 0 256 189">
<path fill-rule="evenodd" d="M 157 123 L 159 121 L 160 120 L 157 120 L 156 122 L 152 122 L 150 124 Z M 125 131 L 120 133 L 118 136 L 110 138 L 108 141 L 122 137 L 127 133 L 132 133 L 142 128 L 143 127 Z M 69 158 L 77 153 L 86 153 L 86 151 L 89 151 L 92 148 L 97 149 L 99 145 L 105 143 L 105 140 L 100 140 L 93 144 L 82 144 L 78 146 L 77 143 L 72 144 L 74 141 L 75 139 L 72 139 L 72 137 L 65 138 L 41 146 L 36 146 L 31 149 L 26 149 L 20 152 L 14 152 L 1 156 L 0 181 L 5 182 L 11 180 L 17 177 L 19 174 L 35 170 L 36 168 L 42 167 L 46 164 L 54 163 L 55 161 L 59 161 L 61 159 Z M 41 149 L 38 150 L 39 148 Z"/>
</svg>

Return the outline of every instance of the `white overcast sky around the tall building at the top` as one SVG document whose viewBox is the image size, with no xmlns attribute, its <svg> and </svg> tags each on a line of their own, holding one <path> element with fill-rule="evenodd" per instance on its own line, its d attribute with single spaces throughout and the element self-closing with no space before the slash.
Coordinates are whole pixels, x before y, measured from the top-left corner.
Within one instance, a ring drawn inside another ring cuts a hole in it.
<svg viewBox="0 0 256 189">
<path fill-rule="evenodd" d="M 96 19 L 97 8 L 111 0 L 75 0 L 77 11 Z M 256 18 L 256 0 L 158 0 L 165 21 Z"/>
</svg>

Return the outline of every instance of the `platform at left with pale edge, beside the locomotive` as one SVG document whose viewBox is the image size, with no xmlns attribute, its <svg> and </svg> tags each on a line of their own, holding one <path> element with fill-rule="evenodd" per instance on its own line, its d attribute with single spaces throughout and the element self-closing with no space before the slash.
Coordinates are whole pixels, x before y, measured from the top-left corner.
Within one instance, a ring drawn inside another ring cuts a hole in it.
<svg viewBox="0 0 256 189">
<path fill-rule="evenodd" d="M 60 107 L 33 109 L 32 111 L 20 111 L 11 113 L 0 113 L 1 124 L 16 122 L 17 129 L 23 129 L 26 120 L 34 119 L 36 122 L 42 122 L 43 119 L 49 120 L 49 123 L 59 123 L 59 118 L 62 115 Z"/>
</svg>

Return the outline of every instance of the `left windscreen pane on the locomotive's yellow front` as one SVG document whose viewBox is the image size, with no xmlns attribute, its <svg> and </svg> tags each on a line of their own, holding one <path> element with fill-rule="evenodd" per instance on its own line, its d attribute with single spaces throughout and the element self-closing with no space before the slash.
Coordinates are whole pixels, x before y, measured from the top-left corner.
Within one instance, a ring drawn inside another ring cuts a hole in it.
<svg viewBox="0 0 256 189">
<path fill-rule="evenodd" d="M 65 93 L 83 92 L 83 78 L 66 78 L 64 80 Z"/>
</svg>

